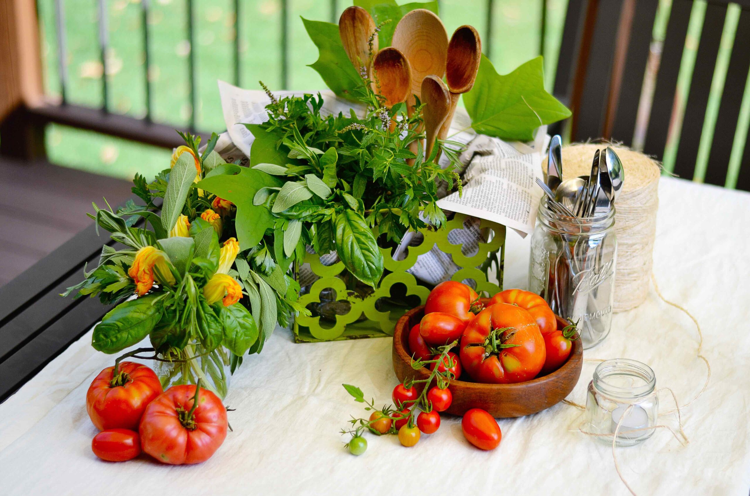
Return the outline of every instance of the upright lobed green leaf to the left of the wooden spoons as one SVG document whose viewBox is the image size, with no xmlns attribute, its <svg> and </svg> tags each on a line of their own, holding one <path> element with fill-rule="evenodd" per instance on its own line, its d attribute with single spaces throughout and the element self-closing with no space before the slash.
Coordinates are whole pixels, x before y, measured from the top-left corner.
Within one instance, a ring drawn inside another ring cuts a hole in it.
<svg viewBox="0 0 750 496">
<path fill-rule="evenodd" d="M 318 47 L 318 59 L 310 64 L 326 85 L 340 97 L 353 99 L 352 90 L 362 85 L 362 78 L 354 64 L 344 52 L 344 45 L 338 35 L 338 25 L 331 22 L 311 21 L 302 17 L 305 29 Z"/>
</svg>

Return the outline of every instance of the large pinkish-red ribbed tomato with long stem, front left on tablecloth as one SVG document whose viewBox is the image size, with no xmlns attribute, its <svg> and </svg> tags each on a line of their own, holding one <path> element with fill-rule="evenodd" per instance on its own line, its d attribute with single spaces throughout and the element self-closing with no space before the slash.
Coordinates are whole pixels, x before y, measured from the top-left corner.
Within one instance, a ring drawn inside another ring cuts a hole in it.
<svg viewBox="0 0 750 496">
<path fill-rule="evenodd" d="M 193 385 L 172 386 L 143 412 L 141 445 L 162 463 L 205 462 L 224 442 L 226 426 L 226 408 L 214 393 Z"/>
</svg>

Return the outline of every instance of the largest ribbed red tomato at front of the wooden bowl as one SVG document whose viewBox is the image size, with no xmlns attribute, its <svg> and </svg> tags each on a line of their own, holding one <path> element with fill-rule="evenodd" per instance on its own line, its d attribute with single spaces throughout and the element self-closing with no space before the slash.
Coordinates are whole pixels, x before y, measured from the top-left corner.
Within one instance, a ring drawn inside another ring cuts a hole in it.
<svg viewBox="0 0 750 496">
<path fill-rule="evenodd" d="M 534 318 L 508 303 L 479 312 L 463 332 L 461 365 L 478 382 L 529 381 L 544 365 L 544 338 Z"/>
</svg>

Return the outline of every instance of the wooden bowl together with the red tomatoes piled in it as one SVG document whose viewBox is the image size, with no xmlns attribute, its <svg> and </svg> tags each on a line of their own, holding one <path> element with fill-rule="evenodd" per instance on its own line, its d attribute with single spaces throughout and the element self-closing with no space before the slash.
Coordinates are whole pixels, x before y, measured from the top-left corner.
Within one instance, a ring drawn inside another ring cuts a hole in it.
<svg viewBox="0 0 750 496">
<path fill-rule="evenodd" d="M 396 324 L 392 355 L 398 379 L 429 378 L 427 366 L 413 364 L 433 359 L 434 346 L 446 342 L 458 344 L 440 365 L 455 375 L 448 414 L 472 408 L 496 418 L 535 414 L 571 393 L 583 365 L 583 345 L 570 322 L 528 291 L 479 298 L 460 282 L 437 285 L 425 305 Z"/>
</svg>

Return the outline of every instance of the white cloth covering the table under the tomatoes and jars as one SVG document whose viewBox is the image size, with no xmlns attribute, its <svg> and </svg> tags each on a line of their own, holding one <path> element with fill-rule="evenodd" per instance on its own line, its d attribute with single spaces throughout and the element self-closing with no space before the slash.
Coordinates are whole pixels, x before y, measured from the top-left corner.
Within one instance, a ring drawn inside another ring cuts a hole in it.
<svg viewBox="0 0 750 496">
<path fill-rule="evenodd" d="M 708 390 L 683 411 L 690 444 L 666 430 L 618 450 L 638 495 L 748 495 L 750 489 L 750 194 L 662 179 L 654 271 L 664 295 L 694 313 L 712 366 Z M 529 241 L 508 233 L 505 287 L 525 287 Z M 492 452 L 469 445 L 460 418 L 407 449 L 395 436 L 368 435 L 364 456 L 344 451 L 339 429 L 365 411 L 341 387 L 356 384 L 378 404 L 397 384 L 391 339 L 298 345 L 277 330 L 263 354 L 246 357 L 226 403 L 229 432 L 200 466 L 160 465 L 146 456 L 107 463 L 91 451 L 96 434 L 86 390 L 112 358 L 90 333 L 0 405 L 0 493 L 4 495 L 626 495 L 611 447 L 576 432 L 581 411 L 560 403 L 529 417 L 499 420 Z M 610 336 L 587 357 L 627 357 L 655 370 L 657 387 L 680 402 L 700 389 L 706 367 L 697 334 L 681 312 L 653 294 L 613 319 Z M 595 363 L 570 398 L 585 402 Z M 661 403 L 671 408 L 666 396 Z M 676 417 L 661 418 L 676 426 Z"/>
</svg>

